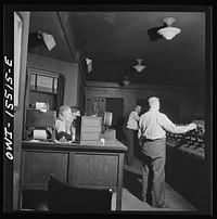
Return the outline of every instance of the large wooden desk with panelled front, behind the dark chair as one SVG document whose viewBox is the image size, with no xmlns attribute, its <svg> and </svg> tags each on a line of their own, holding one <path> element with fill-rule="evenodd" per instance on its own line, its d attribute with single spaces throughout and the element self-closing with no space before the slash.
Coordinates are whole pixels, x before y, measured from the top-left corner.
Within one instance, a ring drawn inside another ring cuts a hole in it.
<svg viewBox="0 0 217 219">
<path fill-rule="evenodd" d="M 127 147 L 117 140 L 105 145 L 22 142 L 22 192 L 48 190 L 50 173 L 73 186 L 113 189 L 116 210 L 122 209 L 124 155 Z"/>
</svg>

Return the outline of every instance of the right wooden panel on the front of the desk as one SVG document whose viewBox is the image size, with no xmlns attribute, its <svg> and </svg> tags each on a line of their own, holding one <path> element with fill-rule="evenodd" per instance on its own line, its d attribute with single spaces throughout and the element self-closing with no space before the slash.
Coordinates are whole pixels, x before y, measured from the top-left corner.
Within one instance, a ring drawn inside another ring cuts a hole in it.
<svg viewBox="0 0 217 219">
<path fill-rule="evenodd" d="M 78 186 L 117 186 L 118 183 L 117 154 L 78 153 L 74 155 L 72 173 L 73 182 Z"/>
</svg>

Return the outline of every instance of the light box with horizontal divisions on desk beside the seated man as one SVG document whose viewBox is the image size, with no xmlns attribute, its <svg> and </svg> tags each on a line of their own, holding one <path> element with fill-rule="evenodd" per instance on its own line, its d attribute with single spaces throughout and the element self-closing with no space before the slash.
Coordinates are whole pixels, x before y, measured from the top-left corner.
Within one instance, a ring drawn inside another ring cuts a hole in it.
<svg viewBox="0 0 217 219">
<path fill-rule="evenodd" d="M 102 117 L 81 117 L 80 143 L 99 143 L 102 132 Z"/>
</svg>

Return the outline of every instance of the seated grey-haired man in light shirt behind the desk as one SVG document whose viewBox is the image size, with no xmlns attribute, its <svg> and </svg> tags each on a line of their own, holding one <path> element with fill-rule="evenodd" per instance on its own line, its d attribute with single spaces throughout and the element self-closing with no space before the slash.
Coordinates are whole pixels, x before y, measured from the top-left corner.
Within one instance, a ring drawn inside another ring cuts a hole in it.
<svg viewBox="0 0 217 219">
<path fill-rule="evenodd" d="M 61 141 L 71 141 L 73 134 L 73 114 L 71 106 L 62 105 L 59 108 L 58 118 L 55 119 L 55 139 Z"/>
</svg>

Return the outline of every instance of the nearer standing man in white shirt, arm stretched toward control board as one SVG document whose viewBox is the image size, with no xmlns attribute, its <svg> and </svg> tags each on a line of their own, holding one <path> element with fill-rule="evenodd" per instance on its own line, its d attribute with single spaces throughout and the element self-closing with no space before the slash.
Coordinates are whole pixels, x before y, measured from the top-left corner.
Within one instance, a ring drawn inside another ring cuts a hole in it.
<svg viewBox="0 0 217 219">
<path fill-rule="evenodd" d="M 149 99 L 150 110 L 141 116 L 140 145 L 142 152 L 142 201 L 152 207 L 169 207 L 165 199 L 166 131 L 184 133 L 195 129 L 195 124 L 176 126 L 159 113 L 158 98 Z"/>
</svg>

